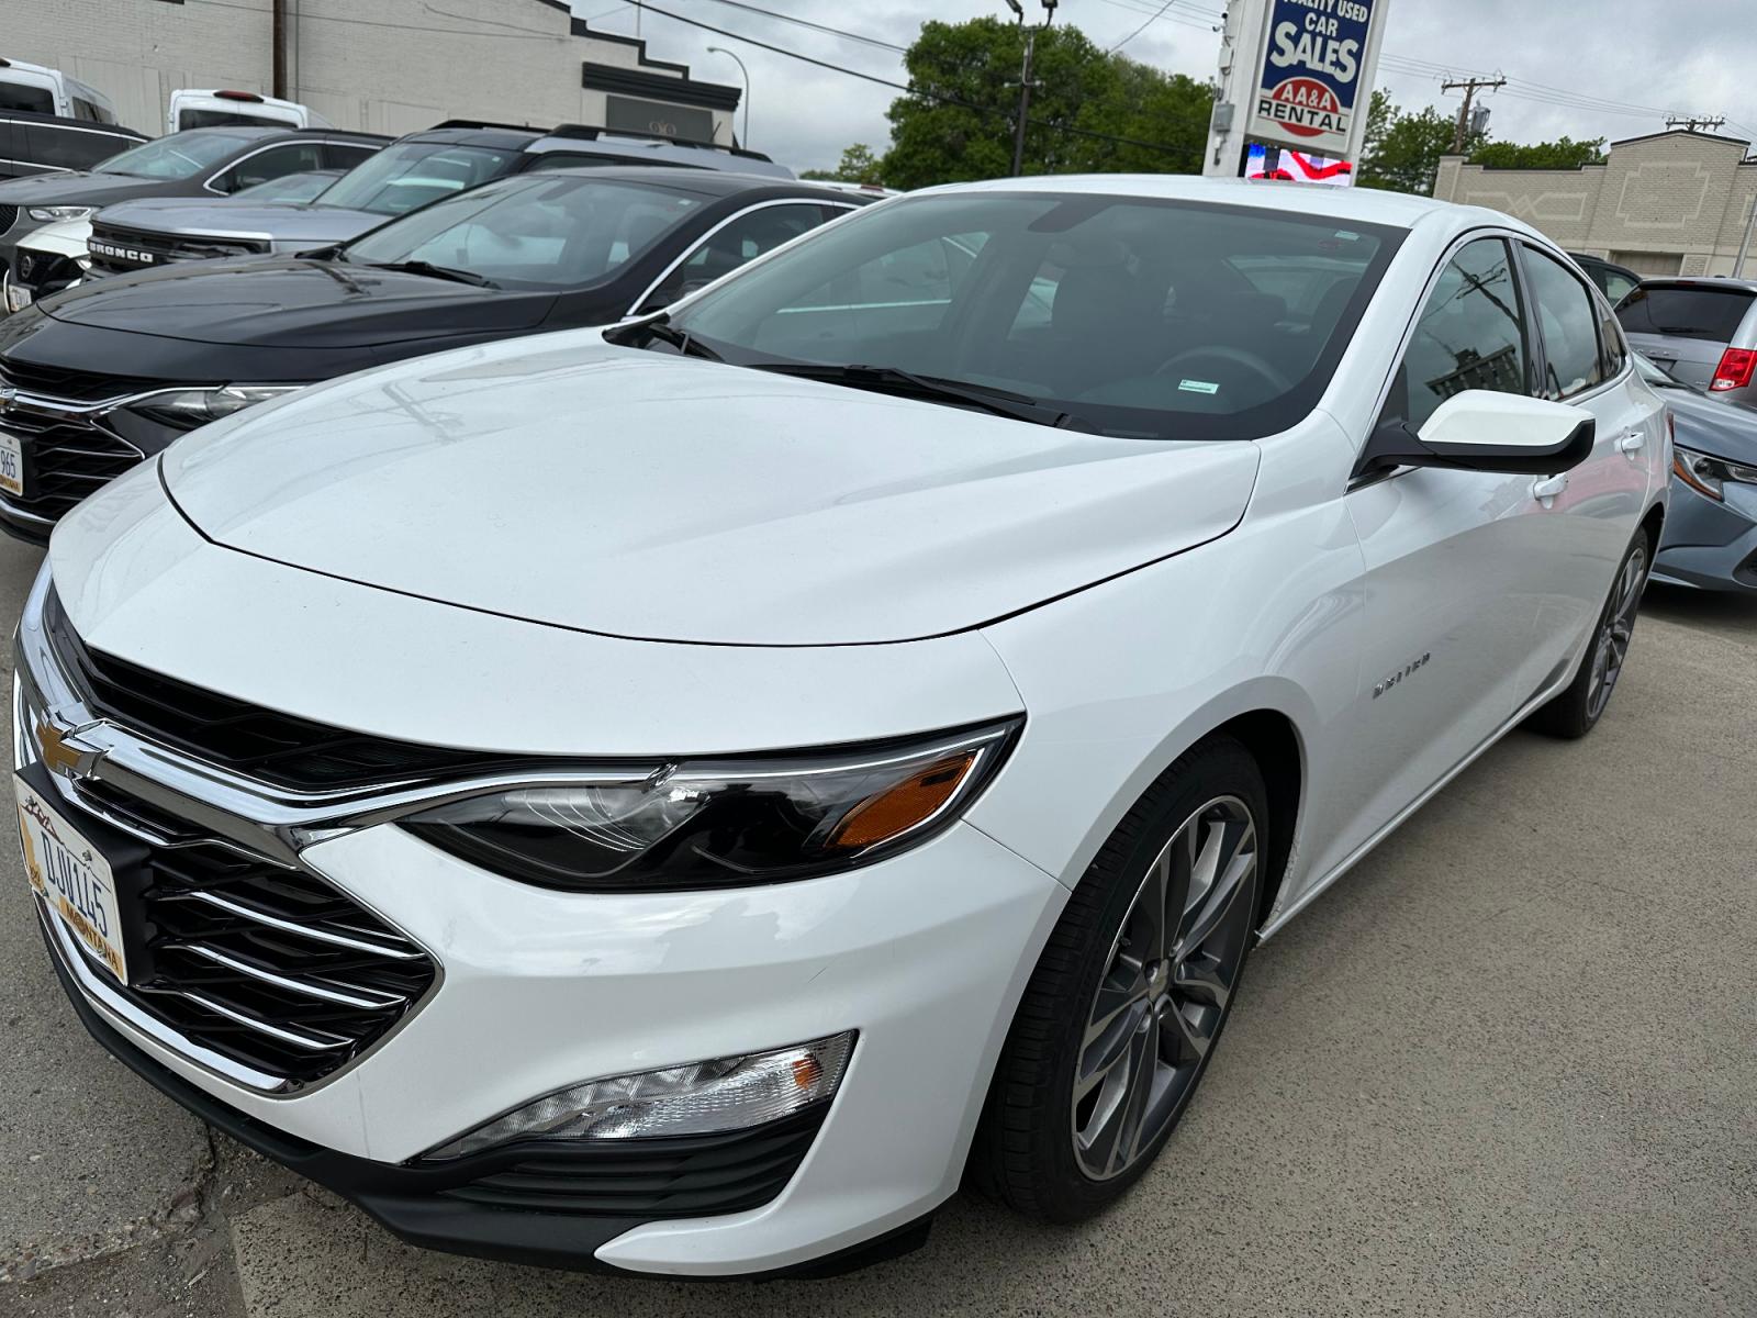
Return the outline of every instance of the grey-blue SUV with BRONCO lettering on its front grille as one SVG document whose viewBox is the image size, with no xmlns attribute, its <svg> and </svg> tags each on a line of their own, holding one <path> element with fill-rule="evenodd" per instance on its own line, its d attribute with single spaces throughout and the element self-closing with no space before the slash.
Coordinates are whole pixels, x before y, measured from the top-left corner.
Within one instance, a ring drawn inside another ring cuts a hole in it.
<svg viewBox="0 0 1757 1318">
<path fill-rule="evenodd" d="M 306 204 L 242 200 L 214 207 L 125 202 L 91 228 L 91 278 L 214 257 L 297 255 L 329 248 L 441 197 L 531 169 L 685 165 L 768 174 L 792 170 L 756 151 L 694 146 L 564 123 L 553 130 L 448 119 L 399 137 Z"/>
</svg>

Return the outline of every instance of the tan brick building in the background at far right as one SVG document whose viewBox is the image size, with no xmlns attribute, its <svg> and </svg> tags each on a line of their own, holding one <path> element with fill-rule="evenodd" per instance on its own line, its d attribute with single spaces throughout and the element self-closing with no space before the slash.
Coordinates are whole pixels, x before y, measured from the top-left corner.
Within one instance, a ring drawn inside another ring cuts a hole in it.
<svg viewBox="0 0 1757 1318">
<path fill-rule="evenodd" d="M 1434 195 L 1506 211 L 1569 251 L 1638 274 L 1732 274 L 1757 200 L 1757 156 L 1736 137 L 1683 130 L 1611 142 L 1602 165 L 1583 169 L 1485 169 L 1444 156 Z M 1757 276 L 1757 239 L 1745 274 Z"/>
</svg>

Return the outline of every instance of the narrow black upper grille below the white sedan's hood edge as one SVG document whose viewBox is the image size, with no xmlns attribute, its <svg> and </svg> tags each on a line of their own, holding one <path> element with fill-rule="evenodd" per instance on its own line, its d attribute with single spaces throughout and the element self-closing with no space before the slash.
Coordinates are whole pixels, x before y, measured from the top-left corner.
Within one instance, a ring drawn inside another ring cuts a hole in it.
<svg viewBox="0 0 1757 1318">
<path fill-rule="evenodd" d="M 211 764 L 293 791 L 322 793 L 504 768 L 471 750 L 390 742 L 265 710 L 86 648 L 53 592 L 44 627 L 93 713 Z"/>
</svg>

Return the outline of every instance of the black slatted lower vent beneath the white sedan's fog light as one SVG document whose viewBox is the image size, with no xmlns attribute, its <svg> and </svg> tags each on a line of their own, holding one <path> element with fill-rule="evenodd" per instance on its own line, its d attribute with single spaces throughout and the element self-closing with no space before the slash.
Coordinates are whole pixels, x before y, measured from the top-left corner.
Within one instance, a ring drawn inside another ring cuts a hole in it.
<svg viewBox="0 0 1757 1318">
<path fill-rule="evenodd" d="M 527 1142 L 504 1167 L 443 1191 L 488 1207 L 604 1218 L 696 1218 L 743 1213 L 778 1195 L 824 1125 L 828 1102 L 726 1135 Z M 443 1167 L 443 1163 L 429 1163 Z"/>
</svg>

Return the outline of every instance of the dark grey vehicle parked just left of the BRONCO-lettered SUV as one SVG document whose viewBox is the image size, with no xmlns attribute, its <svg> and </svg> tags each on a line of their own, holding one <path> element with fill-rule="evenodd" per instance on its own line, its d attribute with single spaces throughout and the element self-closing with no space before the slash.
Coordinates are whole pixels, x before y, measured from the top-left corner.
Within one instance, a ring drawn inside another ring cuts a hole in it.
<svg viewBox="0 0 1757 1318">
<path fill-rule="evenodd" d="M 90 170 L 0 183 L 0 267 L 18 241 L 56 220 L 83 220 L 135 197 L 228 197 L 307 169 L 351 169 L 388 137 L 341 128 L 190 128 L 111 155 Z"/>
</svg>

